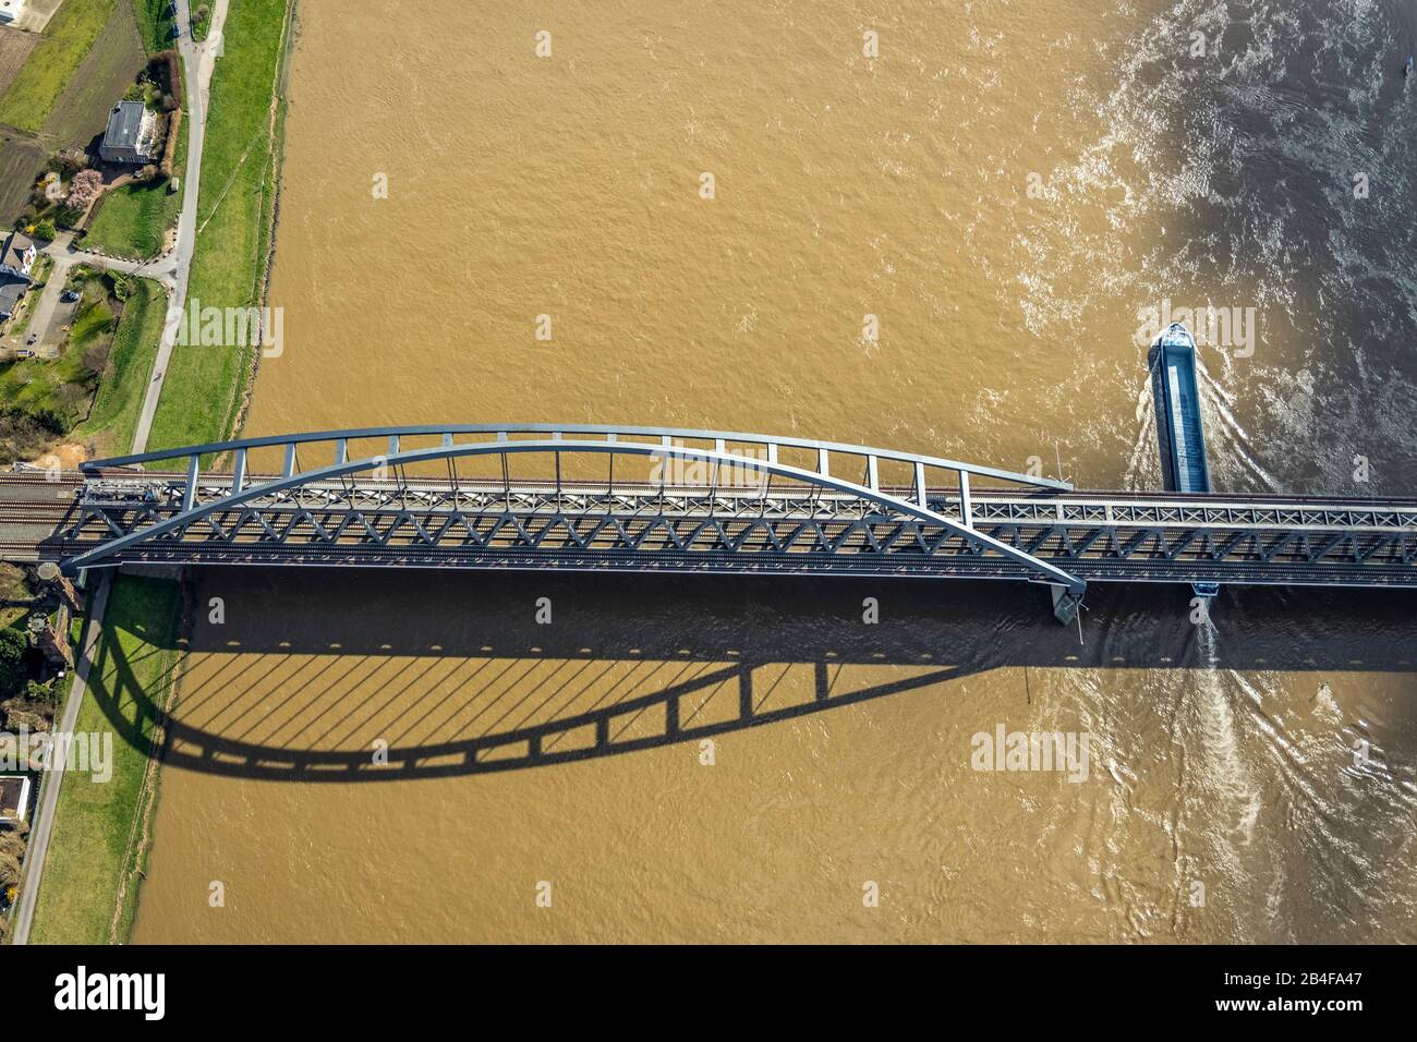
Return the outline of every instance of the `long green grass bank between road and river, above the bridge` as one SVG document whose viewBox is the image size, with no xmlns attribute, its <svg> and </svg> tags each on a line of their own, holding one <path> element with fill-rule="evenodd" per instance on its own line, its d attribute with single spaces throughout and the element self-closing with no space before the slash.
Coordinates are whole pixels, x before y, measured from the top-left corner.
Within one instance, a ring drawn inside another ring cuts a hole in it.
<svg viewBox="0 0 1417 1042">
<path fill-rule="evenodd" d="M 188 303 L 259 305 L 276 170 L 272 82 L 288 0 L 237 0 L 217 62 L 201 163 L 201 207 Z M 279 130 L 279 128 L 276 128 Z M 147 447 L 218 441 L 235 422 L 254 350 L 177 347 L 163 381 Z"/>
</svg>

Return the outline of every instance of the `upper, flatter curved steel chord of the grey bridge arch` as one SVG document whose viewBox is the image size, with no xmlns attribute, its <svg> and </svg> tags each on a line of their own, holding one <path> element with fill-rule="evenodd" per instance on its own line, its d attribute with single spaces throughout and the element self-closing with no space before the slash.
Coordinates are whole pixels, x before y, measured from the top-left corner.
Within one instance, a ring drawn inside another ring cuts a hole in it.
<svg viewBox="0 0 1417 1042">
<path fill-rule="evenodd" d="M 317 442 L 357 441 L 366 438 L 394 438 L 394 437 L 404 438 L 404 437 L 456 435 L 456 434 L 493 434 L 493 435 L 503 435 L 503 434 L 504 435 L 510 434 L 621 435 L 623 434 L 631 437 L 650 437 L 662 439 L 684 438 L 693 441 L 714 441 L 714 442 L 724 441 L 724 442 L 747 444 L 747 445 L 777 445 L 785 448 L 811 449 L 816 452 L 839 452 L 842 455 L 888 459 L 893 462 L 904 462 L 911 465 L 920 464 L 921 466 L 965 472 L 979 478 L 993 478 L 996 481 L 1007 481 L 1019 485 L 1057 489 L 1063 492 L 1071 491 L 1073 488 L 1070 482 L 1057 481 L 1053 478 L 1015 474 L 1013 471 L 1002 471 L 995 466 L 979 466 L 978 464 L 965 464 L 958 459 L 945 459 L 942 456 L 925 456 L 914 452 L 871 448 L 867 445 L 850 445 L 847 442 L 839 442 L 839 441 L 816 441 L 812 438 L 789 438 L 789 437 L 777 437 L 767 434 L 747 434 L 743 431 L 707 431 L 707 430 L 694 430 L 686 427 L 629 427 L 629 425 L 614 425 L 614 424 L 421 424 L 411 427 L 363 427 L 363 428 L 336 430 L 336 431 L 307 431 L 303 434 L 273 434 L 259 438 L 237 438 L 232 441 L 207 442 L 204 445 L 184 445 L 181 448 L 156 449 L 152 452 L 139 452 L 136 455 L 112 456 L 109 459 L 91 459 L 82 465 L 82 469 L 84 472 L 91 474 L 105 466 L 137 466 L 142 464 L 153 464 L 162 459 L 188 459 L 191 456 L 220 455 L 222 452 L 234 452 L 241 449 L 249 451 L 259 448 L 278 448 L 285 445 L 305 445 L 312 442 L 317 444 Z M 734 462 L 740 465 L 743 464 L 740 458 L 735 458 Z"/>
</svg>

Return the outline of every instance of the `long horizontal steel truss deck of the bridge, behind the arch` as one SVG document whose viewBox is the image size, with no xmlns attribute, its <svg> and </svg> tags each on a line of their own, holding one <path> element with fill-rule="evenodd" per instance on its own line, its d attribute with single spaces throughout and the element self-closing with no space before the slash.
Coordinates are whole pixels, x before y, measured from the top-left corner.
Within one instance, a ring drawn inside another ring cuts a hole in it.
<svg viewBox="0 0 1417 1042">
<path fill-rule="evenodd" d="M 98 549 L 180 519 L 184 495 L 181 481 L 95 482 L 68 546 Z M 220 506 L 228 496 L 230 483 L 204 483 L 197 499 Z M 961 510 L 958 498 L 930 505 L 942 516 Z M 1108 506 L 1111 520 L 1095 503 L 985 496 L 973 505 L 975 532 L 1094 581 L 1417 586 L 1417 527 L 1394 527 L 1382 510 L 1374 523 L 1345 527 L 1374 512 L 1319 508 L 1326 525 L 1295 527 L 1275 525 L 1274 510 L 1289 510 L 1272 505 L 1229 503 L 1224 522 L 1195 520 L 1189 503 Z M 1026 577 L 944 526 L 853 496 L 604 486 L 307 485 L 214 509 L 180 536 L 115 553 L 193 563 Z"/>
</svg>

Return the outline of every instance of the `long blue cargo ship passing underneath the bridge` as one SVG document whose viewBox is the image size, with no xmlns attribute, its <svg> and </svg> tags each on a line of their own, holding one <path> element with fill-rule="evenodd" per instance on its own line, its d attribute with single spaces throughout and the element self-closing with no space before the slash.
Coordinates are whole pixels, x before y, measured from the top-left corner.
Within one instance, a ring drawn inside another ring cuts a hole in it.
<svg viewBox="0 0 1417 1042">
<path fill-rule="evenodd" d="M 1152 388 L 1156 396 L 1156 441 L 1169 492 L 1209 493 L 1206 434 L 1200 425 L 1196 381 L 1196 339 L 1172 322 L 1152 347 Z M 1193 583 L 1197 597 L 1214 597 L 1219 583 Z"/>
</svg>

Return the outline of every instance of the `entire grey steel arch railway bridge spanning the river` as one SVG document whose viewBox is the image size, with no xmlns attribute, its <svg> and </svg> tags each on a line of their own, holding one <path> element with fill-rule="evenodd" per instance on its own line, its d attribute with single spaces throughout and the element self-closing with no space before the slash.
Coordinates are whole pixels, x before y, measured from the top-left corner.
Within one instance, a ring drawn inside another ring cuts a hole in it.
<svg viewBox="0 0 1417 1042">
<path fill-rule="evenodd" d="M 258 474 L 262 458 L 281 464 Z M 523 464 L 533 476 L 513 474 Z M 1417 500 L 1080 493 L 805 438 L 418 425 L 89 462 L 48 549 L 71 573 L 171 563 L 1012 578 L 1051 586 L 1070 620 L 1088 581 L 1417 587 Z"/>
</svg>

